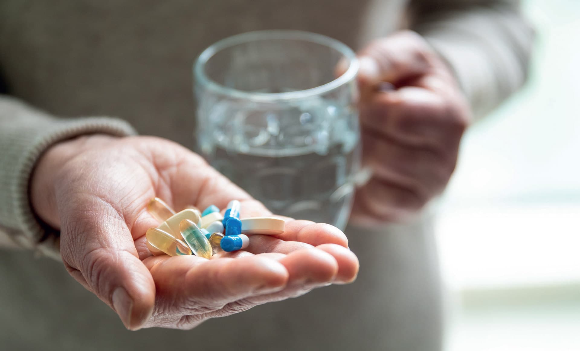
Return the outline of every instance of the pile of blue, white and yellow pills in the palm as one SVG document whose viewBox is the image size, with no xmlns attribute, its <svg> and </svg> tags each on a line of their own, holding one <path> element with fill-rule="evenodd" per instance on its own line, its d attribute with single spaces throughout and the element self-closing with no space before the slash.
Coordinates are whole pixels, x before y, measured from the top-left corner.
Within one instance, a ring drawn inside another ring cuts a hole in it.
<svg viewBox="0 0 580 351">
<path fill-rule="evenodd" d="M 241 204 L 232 200 L 222 215 L 211 205 L 200 212 L 195 207 L 175 213 L 160 198 L 152 198 L 147 211 L 161 225 L 147 230 L 147 248 L 153 255 L 197 255 L 211 258 L 219 251 L 247 248 L 248 235 L 275 235 L 284 232 L 284 220 L 276 217 L 240 219 Z"/>
</svg>

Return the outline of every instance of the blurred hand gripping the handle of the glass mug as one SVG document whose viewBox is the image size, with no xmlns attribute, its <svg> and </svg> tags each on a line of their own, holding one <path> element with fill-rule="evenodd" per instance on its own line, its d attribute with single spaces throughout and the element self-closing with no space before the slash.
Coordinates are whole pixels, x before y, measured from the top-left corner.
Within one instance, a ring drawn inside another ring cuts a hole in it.
<svg viewBox="0 0 580 351">
<path fill-rule="evenodd" d="M 373 176 L 358 189 L 351 219 L 408 220 L 449 182 L 469 107 L 447 65 L 415 32 L 371 42 L 358 57 L 363 161 Z"/>
</svg>

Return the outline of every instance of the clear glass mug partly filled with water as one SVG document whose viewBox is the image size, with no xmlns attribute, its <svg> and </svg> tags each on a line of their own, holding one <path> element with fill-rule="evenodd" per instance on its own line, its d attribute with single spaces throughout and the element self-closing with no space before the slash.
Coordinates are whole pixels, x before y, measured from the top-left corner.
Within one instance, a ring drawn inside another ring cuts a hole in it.
<svg viewBox="0 0 580 351">
<path fill-rule="evenodd" d="M 309 32 L 213 44 L 194 67 L 201 153 L 274 213 L 344 229 L 360 167 L 357 70 L 346 45 Z"/>
</svg>

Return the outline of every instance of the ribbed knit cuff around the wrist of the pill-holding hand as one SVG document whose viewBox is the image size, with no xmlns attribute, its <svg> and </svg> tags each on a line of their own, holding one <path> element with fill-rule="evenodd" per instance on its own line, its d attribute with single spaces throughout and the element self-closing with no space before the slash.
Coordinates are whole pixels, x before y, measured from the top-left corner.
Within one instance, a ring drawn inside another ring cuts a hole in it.
<svg viewBox="0 0 580 351">
<path fill-rule="evenodd" d="M 77 120 L 54 120 L 49 128 L 36 135 L 25 152 L 21 155 L 16 167 L 16 182 L 12 198 L 16 223 L 21 226 L 21 233 L 14 237 L 17 244 L 34 248 L 41 255 L 60 259 L 59 236 L 50 233 L 50 229 L 40 222 L 32 211 L 29 196 L 29 183 L 38 158 L 53 144 L 72 137 L 103 133 L 113 136 L 134 135 L 135 130 L 127 122 L 114 118 L 79 118 Z"/>
</svg>

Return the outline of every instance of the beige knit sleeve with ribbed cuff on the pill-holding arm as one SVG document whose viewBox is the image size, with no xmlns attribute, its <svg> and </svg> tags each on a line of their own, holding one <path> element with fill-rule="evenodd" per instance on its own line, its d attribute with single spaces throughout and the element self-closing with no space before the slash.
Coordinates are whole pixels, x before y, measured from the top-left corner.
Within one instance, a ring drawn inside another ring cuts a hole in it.
<svg viewBox="0 0 580 351">
<path fill-rule="evenodd" d="M 83 134 L 135 134 L 125 121 L 107 117 L 59 119 L 0 95 L 0 246 L 35 249 L 55 257 L 58 236 L 30 207 L 28 182 L 41 154 L 52 144 Z"/>
</svg>

